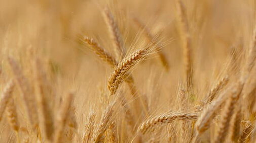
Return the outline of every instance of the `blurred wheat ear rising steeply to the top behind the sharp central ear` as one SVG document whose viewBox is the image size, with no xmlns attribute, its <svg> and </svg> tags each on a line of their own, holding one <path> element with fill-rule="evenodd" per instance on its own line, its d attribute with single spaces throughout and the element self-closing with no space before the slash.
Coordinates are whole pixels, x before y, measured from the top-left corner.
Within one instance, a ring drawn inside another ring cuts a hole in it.
<svg viewBox="0 0 256 143">
<path fill-rule="evenodd" d="M 118 25 L 116 21 L 114 20 L 114 17 L 111 13 L 111 11 L 106 7 L 103 13 L 104 20 L 108 26 L 109 33 L 111 33 L 111 37 L 114 42 L 114 50 L 116 54 L 116 58 L 121 60 L 124 57 L 124 43 L 121 36 L 121 33 L 119 31 Z"/>
</svg>

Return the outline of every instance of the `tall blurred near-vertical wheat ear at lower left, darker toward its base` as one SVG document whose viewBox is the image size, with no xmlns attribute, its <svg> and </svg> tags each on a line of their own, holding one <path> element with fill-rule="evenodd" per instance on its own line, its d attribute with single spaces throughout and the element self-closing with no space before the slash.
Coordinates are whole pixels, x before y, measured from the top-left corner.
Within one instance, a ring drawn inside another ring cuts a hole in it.
<svg viewBox="0 0 256 143">
<path fill-rule="evenodd" d="M 50 89 L 47 88 L 46 73 L 43 65 L 39 59 L 34 61 L 34 75 L 35 75 L 35 88 L 38 93 L 37 100 L 39 108 L 41 109 L 41 114 L 43 115 L 42 120 L 43 128 L 47 139 L 52 140 L 52 135 L 54 133 L 54 121 L 53 114 L 51 112 L 51 107 L 47 101 L 46 96 L 51 95 Z"/>
</svg>

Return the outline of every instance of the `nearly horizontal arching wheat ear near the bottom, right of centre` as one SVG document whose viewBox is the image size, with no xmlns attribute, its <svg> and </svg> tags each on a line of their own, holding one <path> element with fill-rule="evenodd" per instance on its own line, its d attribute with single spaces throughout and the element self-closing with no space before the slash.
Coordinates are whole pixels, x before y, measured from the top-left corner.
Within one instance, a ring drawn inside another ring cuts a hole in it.
<svg viewBox="0 0 256 143">
<path fill-rule="evenodd" d="M 139 127 L 138 131 L 142 134 L 146 133 L 149 129 L 153 128 L 156 125 L 168 124 L 176 120 L 196 120 L 198 118 L 197 113 L 169 113 L 156 116 L 144 121 Z"/>
</svg>

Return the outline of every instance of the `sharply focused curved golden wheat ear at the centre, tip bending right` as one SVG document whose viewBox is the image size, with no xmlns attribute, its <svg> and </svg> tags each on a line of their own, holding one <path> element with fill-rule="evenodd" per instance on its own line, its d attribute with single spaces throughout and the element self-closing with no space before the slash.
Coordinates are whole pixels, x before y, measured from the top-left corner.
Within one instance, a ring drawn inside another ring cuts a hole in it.
<svg viewBox="0 0 256 143">
<path fill-rule="evenodd" d="M 108 89 L 111 95 L 116 93 L 119 85 L 123 82 L 123 79 L 129 72 L 129 69 L 136 65 L 136 63 L 141 62 L 149 54 L 150 52 L 148 51 L 148 48 L 145 48 L 143 50 L 137 50 L 128 57 L 124 58 L 115 67 L 114 72 L 108 78 Z"/>
</svg>

